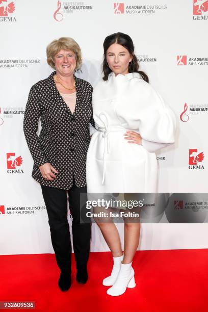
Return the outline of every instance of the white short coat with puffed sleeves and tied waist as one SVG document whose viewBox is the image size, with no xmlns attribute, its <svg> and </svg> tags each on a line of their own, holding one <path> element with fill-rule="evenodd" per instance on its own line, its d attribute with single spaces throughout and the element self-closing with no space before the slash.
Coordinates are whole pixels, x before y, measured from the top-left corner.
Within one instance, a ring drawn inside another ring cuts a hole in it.
<svg viewBox="0 0 208 312">
<path fill-rule="evenodd" d="M 87 191 L 156 192 L 154 152 L 174 143 L 173 112 L 139 73 L 110 73 L 94 88 L 92 101 L 97 131 L 87 153 Z M 142 145 L 124 139 L 127 129 L 141 135 Z"/>
</svg>

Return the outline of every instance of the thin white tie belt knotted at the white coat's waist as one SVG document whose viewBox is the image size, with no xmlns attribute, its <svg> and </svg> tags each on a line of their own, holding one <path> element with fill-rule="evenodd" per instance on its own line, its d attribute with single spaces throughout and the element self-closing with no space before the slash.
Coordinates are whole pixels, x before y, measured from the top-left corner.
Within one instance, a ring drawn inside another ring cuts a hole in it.
<svg viewBox="0 0 208 312">
<path fill-rule="evenodd" d="M 105 116 L 106 120 L 103 120 L 101 116 Z M 110 153 L 110 133 L 111 132 L 123 132 L 129 129 L 118 127 L 118 126 L 110 126 L 109 125 L 109 118 L 106 114 L 101 113 L 99 115 L 100 120 L 105 125 L 104 127 L 98 127 L 98 131 L 102 132 L 102 137 L 105 139 L 104 142 L 104 151 L 103 151 L 103 159 L 102 159 L 102 185 L 105 182 L 105 175 L 106 175 L 106 155 Z M 132 131 L 136 131 L 136 129 L 132 129 Z"/>
</svg>

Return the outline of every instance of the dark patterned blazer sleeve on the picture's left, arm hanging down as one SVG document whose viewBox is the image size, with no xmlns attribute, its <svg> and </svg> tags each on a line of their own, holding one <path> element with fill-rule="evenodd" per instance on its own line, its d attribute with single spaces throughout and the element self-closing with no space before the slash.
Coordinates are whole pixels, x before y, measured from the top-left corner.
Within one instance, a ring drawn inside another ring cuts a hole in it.
<svg viewBox="0 0 208 312">
<path fill-rule="evenodd" d="M 23 131 L 29 150 L 37 167 L 47 163 L 47 159 L 38 142 L 38 123 L 41 115 L 38 90 L 34 85 L 29 93 L 28 102 L 24 113 Z"/>
</svg>

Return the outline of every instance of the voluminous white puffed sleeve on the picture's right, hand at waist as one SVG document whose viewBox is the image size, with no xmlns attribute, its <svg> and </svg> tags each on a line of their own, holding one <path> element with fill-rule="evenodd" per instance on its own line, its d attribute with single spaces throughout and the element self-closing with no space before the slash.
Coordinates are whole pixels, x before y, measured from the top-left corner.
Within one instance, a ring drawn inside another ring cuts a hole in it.
<svg viewBox="0 0 208 312">
<path fill-rule="evenodd" d="M 139 133 L 143 147 L 149 152 L 155 152 L 173 144 L 176 128 L 173 111 L 161 95 L 145 82 L 140 96 L 143 110 L 139 121 Z"/>
</svg>

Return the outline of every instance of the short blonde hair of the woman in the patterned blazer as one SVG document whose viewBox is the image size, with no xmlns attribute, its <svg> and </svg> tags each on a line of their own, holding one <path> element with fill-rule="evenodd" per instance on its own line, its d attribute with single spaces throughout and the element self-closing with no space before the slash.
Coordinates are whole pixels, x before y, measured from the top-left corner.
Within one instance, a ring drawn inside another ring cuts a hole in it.
<svg viewBox="0 0 208 312">
<path fill-rule="evenodd" d="M 82 54 L 79 44 L 72 38 L 61 37 L 58 40 L 54 40 L 46 47 L 47 63 L 52 68 L 55 68 L 54 57 L 61 49 L 71 50 L 75 54 L 76 68 L 79 69 L 82 65 Z"/>
</svg>

